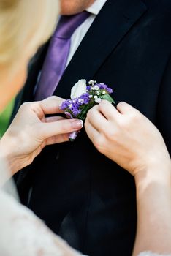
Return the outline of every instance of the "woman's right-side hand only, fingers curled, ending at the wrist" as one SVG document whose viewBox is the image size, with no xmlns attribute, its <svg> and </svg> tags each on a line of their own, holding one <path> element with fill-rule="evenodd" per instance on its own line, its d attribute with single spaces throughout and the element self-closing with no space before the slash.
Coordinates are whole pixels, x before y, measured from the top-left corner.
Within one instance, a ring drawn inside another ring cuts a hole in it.
<svg viewBox="0 0 171 256">
<path fill-rule="evenodd" d="M 170 156 L 158 129 L 132 106 L 117 109 L 102 101 L 88 111 L 86 132 L 99 152 L 133 176 L 154 165 L 170 165 Z"/>
</svg>

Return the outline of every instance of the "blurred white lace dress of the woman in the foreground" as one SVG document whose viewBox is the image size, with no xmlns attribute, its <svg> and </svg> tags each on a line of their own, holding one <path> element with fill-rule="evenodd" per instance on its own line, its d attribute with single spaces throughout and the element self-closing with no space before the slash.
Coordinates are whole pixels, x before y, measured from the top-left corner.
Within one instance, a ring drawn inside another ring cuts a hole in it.
<svg viewBox="0 0 171 256">
<path fill-rule="evenodd" d="M 6 177 L 0 176 L 3 183 Z M 12 187 L 13 194 L 14 186 L 9 187 Z M 22 206 L 15 197 L 0 187 L 0 255 L 79 256 L 80 254 L 52 233 L 32 211 Z M 162 255 L 142 252 L 139 256 Z"/>
</svg>

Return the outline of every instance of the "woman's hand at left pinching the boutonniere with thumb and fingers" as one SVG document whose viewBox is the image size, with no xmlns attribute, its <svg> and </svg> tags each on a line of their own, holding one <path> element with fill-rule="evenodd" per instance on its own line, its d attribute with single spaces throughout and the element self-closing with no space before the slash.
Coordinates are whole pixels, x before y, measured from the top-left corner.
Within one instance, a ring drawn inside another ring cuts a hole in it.
<svg viewBox="0 0 171 256">
<path fill-rule="evenodd" d="M 70 132 L 83 127 L 77 119 L 45 118 L 46 114 L 61 113 L 63 100 L 54 96 L 21 105 L 0 141 L 0 157 L 7 159 L 12 174 L 31 164 L 45 146 L 67 141 Z"/>
</svg>

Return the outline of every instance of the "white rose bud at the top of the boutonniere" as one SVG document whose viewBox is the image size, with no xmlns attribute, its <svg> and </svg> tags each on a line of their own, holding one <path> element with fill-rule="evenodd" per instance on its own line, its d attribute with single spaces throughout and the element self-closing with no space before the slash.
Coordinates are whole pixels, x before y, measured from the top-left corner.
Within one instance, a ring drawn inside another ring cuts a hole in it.
<svg viewBox="0 0 171 256">
<path fill-rule="evenodd" d="M 71 90 L 71 99 L 80 97 L 82 94 L 86 94 L 86 80 L 82 79 L 75 83 L 75 86 Z"/>
</svg>

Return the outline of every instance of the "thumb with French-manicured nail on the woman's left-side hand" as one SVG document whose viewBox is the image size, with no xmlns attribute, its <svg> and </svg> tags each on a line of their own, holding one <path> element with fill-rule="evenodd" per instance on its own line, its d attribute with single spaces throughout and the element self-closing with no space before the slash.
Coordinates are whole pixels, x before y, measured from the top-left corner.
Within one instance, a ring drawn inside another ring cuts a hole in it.
<svg viewBox="0 0 171 256">
<path fill-rule="evenodd" d="M 40 136 L 45 140 L 55 135 L 74 132 L 83 127 L 83 121 L 77 119 L 65 119 L 50 123 L 41 123 Z"/>
</svg>

